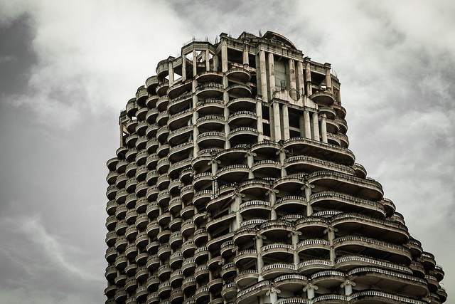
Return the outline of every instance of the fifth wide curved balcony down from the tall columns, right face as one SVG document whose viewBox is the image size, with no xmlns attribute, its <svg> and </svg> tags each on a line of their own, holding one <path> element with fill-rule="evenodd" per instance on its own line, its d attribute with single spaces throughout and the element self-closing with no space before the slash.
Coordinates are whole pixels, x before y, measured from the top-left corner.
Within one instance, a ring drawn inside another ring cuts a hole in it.
<svg viewBox="0 0 455 304">
<path fill-rule="evenodd" d="M 333 227 L 343 231 L 362 231 L 364 236 L 391 243 L 407 243 L 410 238 L 407 227 L 392 221 L 363 216 L 361 214 L 338 214 L 331 219 Z"/>
</svg>

